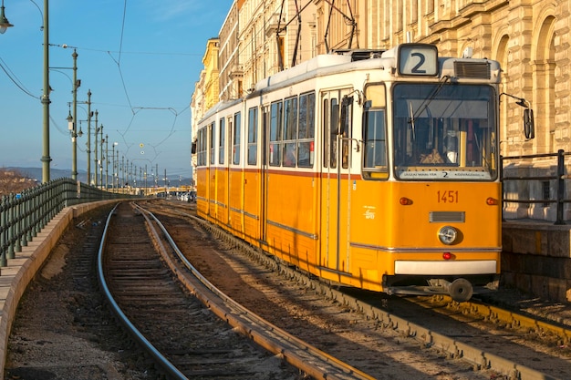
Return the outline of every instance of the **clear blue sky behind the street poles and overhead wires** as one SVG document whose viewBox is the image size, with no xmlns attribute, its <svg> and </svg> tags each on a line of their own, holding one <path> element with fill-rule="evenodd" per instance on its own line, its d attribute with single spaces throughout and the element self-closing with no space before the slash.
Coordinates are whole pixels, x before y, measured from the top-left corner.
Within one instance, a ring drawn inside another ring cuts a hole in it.
<svg viewBox="0 0 571 380">
<path fill-rule="evenodd" d="M 71 176 L 66 118 L 73 100 L 69 46 L 75 46 L 81 80 L 78 119 L 85 120 L 78 124 L 83 131 L 78 139 L 78 171 L 87 169 L 88 106 L 82 102 L 88 100 L 90 89 L 91 110 L 98 110 L 103 135 L 109 136 L 109 156 L 111 143 L 117 142 L 119 161 L 124 156 L 137 168 L 147 165 L 148 171 L 158 165 L 159 172 L 166 169 L 171 179 L 191 176 L 192 92 L 203 67 L 206 41 L 218 36 L 232 0 L 214 3 L 49 2 L 52 169 L 69 169 Z M 40 168 L 44 1 L 4 0 L 4 5 L 14 26 L 0 35 L 0 167 Z M 92 151 L 94 141 L 92 136 Z M 92 152 L 92 171 L 93 159 Z"/>
</svg>

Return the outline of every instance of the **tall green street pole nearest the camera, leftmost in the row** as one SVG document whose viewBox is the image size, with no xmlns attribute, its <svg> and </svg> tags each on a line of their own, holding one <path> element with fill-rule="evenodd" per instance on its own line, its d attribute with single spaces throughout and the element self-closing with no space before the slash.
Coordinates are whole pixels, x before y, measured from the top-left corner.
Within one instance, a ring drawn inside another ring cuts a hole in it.
<svg viewBox="0 0 571 380">
<path fill-rule="evenodd" d="M 41 98 L 44 110 L 43 148 L 42 148 L 42 183 L 49 182 L 49 10 L 48 0 L 44 0 L 44 93 Z"/>
</svg>

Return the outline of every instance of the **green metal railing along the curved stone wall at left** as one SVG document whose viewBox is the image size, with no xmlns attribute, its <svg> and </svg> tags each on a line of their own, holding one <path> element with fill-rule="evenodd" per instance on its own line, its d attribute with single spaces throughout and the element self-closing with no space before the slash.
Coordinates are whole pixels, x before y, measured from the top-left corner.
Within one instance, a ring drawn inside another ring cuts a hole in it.
<svg viewBox="0 0 571 380">
<path fill-rule="evenodd" d="M 65 207 L 97 200 L 128 198 L 71 179 L 52 180 L 0 200 L 0 267 L 46 227 Z"/>
</svg>

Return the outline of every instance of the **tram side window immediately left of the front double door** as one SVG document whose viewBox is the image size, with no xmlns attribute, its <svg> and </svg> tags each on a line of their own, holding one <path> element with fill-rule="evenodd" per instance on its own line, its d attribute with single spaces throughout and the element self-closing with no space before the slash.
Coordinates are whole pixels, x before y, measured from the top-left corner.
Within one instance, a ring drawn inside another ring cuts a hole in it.
<svg viewBox="0 0 571 380">
<path fill-rule="evenodd" d="M 312 168 L 314 160 L 314 140 L 316 115 L 316 94 L 299 97 L 299 121 L 297 123 L 297 166 Z"/>
</svg>

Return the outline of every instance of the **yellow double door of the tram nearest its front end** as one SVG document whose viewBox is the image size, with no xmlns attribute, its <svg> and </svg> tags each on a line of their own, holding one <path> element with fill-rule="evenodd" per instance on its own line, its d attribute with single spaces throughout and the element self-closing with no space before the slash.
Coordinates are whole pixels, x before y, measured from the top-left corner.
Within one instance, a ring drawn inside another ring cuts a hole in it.
<svg viewBox="0 0 571 380">
<path fill-rule="evenodd" d="M 351 92 L 328 91 L 321 98 L 324 147 L 320 264 L 326 272 L 349 271 Z"/>
</svg>

